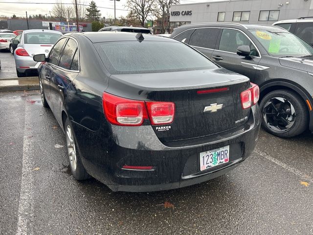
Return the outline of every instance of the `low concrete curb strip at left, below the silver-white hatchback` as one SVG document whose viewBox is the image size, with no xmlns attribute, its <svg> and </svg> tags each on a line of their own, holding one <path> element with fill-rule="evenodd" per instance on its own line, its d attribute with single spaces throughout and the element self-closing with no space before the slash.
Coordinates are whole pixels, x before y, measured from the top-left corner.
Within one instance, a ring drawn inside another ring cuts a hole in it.
<svg viewBox="0 0 313 235">
<path fill-rule="evenodd" d="M 39 90 L 38 77 L 17 77 L 0 79 L 0 92 Z"/>
</svg>

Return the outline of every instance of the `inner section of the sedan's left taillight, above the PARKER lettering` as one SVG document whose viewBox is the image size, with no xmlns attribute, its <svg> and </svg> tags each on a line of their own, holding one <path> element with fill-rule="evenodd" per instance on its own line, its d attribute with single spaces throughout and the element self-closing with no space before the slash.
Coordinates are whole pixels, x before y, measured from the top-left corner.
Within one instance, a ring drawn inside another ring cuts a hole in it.
<svg viewBox="0 0 313 235">
<path fill-rule="evenodd" d="M 173 102 L 146 102 L 151 124 L 168 124 L 174 120 Z"/>
</svg>

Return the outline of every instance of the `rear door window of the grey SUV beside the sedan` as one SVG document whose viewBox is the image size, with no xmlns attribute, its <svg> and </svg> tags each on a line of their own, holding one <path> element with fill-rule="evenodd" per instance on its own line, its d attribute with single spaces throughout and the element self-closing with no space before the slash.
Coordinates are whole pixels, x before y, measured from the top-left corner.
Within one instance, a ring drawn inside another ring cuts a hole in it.
<svg viewBox="0 0 313 235">
<path fill-rule="evenodd" d="M 219 28 L 198 28 L 191 35 L 189 44 L 195 47 L 214 49 L 219 32 Z"/>
</svg>

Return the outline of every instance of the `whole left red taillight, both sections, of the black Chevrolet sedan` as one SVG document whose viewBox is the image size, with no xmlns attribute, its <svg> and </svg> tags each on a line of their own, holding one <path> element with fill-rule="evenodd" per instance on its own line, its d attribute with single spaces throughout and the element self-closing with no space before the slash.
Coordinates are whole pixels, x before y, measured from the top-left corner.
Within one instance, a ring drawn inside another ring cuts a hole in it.
<svg viewBox="0 0 313 235">
<path fill-rule="evenodd" d="M 175 104 L 172 102 L 145 102 L 106 92 L 102 102 L 107 120 L 114 125 L 140 126 L 149 117 L 152 125 L 168 124 L 174 120 Z"/>
</svg>

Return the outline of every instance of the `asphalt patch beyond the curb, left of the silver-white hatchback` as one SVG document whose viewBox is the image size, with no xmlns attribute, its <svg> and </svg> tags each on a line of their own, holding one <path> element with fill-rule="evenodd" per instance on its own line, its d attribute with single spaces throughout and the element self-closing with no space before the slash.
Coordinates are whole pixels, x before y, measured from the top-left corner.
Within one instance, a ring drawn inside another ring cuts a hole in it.
<svg viewBox="0 0 313 235">
<path fill-rule="evenodd" d="M 0 79 L 17 77 L 14 56 L 11 54 L 9 50 L 0 51 L 0 60 L 1 60 Z"/>
</svg>

